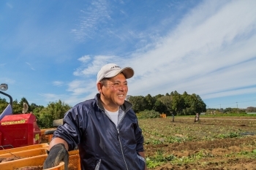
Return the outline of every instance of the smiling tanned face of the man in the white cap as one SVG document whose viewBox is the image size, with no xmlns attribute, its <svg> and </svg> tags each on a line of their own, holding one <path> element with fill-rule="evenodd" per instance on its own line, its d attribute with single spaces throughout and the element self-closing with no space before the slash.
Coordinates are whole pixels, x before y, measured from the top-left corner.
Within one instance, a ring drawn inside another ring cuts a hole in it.
<svg viewBox="0 0 256 170">
<path fill-rule="evenodd" d="M 111 77 L 102 85 L 101 99 L 104 107 L 109 111 L 116 111 L 127 96 L 128 86 L 127 79 L 124 74 L 118 74 L 116 77 Z"/>
</svg>

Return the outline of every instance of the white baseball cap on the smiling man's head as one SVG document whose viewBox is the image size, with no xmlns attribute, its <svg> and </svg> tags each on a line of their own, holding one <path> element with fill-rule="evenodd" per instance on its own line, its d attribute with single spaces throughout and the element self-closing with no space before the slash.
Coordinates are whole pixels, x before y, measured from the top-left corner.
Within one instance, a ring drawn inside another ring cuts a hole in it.
<svg viewBox="0 0 256 170">
<path fill-rule="evenodd" d="M 117 66 L 116 63 L 108 63 L 107 65 L 102 66 L 102 69 L 99 70 L 97 74 L 97 83 L 104 78 L 115 77 L 121 72 L 127 79 L 131 78 L 134 75 L 134 71 L 131 67 L 124 67 L 124 69 L 121 69 L 121 67 Z"/>
</svg>

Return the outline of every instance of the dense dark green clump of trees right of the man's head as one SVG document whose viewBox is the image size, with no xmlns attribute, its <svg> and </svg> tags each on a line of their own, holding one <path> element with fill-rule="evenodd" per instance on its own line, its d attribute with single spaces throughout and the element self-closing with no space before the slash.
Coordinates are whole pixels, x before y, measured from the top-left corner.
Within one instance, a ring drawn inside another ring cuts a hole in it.
<svg viewBox="0 0 256 170">
<path fill-rule="evenodd" d="M 200 96 L 195 93 L 190 95 L 186 91 L 183 94 L 175 90 L 165 95 L 127 96 L 127 101 L 132 103 L 132 109 L 136 113 L 144 110 L 153 110 L 167 115 L 195 115 L 206 112 L 206 104 Z"/>
</svg>

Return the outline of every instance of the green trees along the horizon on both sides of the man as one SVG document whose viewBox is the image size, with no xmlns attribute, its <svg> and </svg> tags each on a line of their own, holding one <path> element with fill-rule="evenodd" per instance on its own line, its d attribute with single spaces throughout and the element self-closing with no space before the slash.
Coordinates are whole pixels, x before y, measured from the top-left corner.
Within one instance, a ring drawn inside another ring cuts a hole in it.
<svg viewBox="0 0 256 170">
<path fill-rule="evenodd" d="M 206 104 L 200 96 L 193 93 L 189 95 L 186 91 L 179 94 L 177 91 L 166 93 L 165 95 L 159 94 L 157 96 L 127 96 L 127 101 L 132 103 L 132 109 L 135 113 L 143 111 L 147 115 L 154 113 L 154 117 L 159 114 L 165 113 L 167 115 L 195 115 L 197 112 L 206 112 Z M 53 120 L 61 119 L 64 114 L 71 108 L 69 104 L 65 104 L 59 100 L 50 102 L 47 107 L 37 105 L 34 103 L 29 104 L 26 98 L 21 98 L 20 102 L 16 99 L 12 102 L 13 114 L 22 113 L 23 103 L 28 104 L 28 112 L 33 112 L 37 117 L 37 124 L 40 128 L 52 128 Z M 7 107 L 8 102 L 5 98 L 0 98 L 0 113 Z"/>
</svg>

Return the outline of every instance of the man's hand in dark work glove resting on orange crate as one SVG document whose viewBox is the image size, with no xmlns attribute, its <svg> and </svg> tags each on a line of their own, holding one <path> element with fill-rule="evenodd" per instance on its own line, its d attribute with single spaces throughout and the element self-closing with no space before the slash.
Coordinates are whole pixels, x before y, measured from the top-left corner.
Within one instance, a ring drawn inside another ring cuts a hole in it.
<svg viewBox="0 0 256 170">
<path fill-rule="evenodd" d="M 59 163 L 64 161 L 65 163 L 65 170 L 68 170 L 69 164 L 69 152 L 67 152 L 64 144 L 55 144 L 53 147 L 50 148 L 48 152 L 48 156 L 45 159 L 45 163 L 43 169 L 49 169 L 54 166 L 59 166 Z"/>
</svg>

